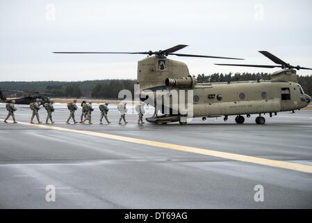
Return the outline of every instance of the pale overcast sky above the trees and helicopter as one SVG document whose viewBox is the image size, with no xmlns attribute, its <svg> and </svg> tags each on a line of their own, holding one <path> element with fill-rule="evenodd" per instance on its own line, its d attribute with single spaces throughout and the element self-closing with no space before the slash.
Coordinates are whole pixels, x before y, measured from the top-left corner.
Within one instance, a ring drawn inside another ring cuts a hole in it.
<svg viewBox="0 0 312 223">
<path fill-rule="evenodd" d="M 136 79 L 137 61 L 144 55 L 51 52 L 136 52 L 178 44 L 189 45 L 179 53 L 274 64 L 257 52 L 267 50 L 312 68 L 312 1 L 0 0 L 0 81 Z M 187 63 L 192 75 L 276 70 L 171 58 Z"/>
</svg>

